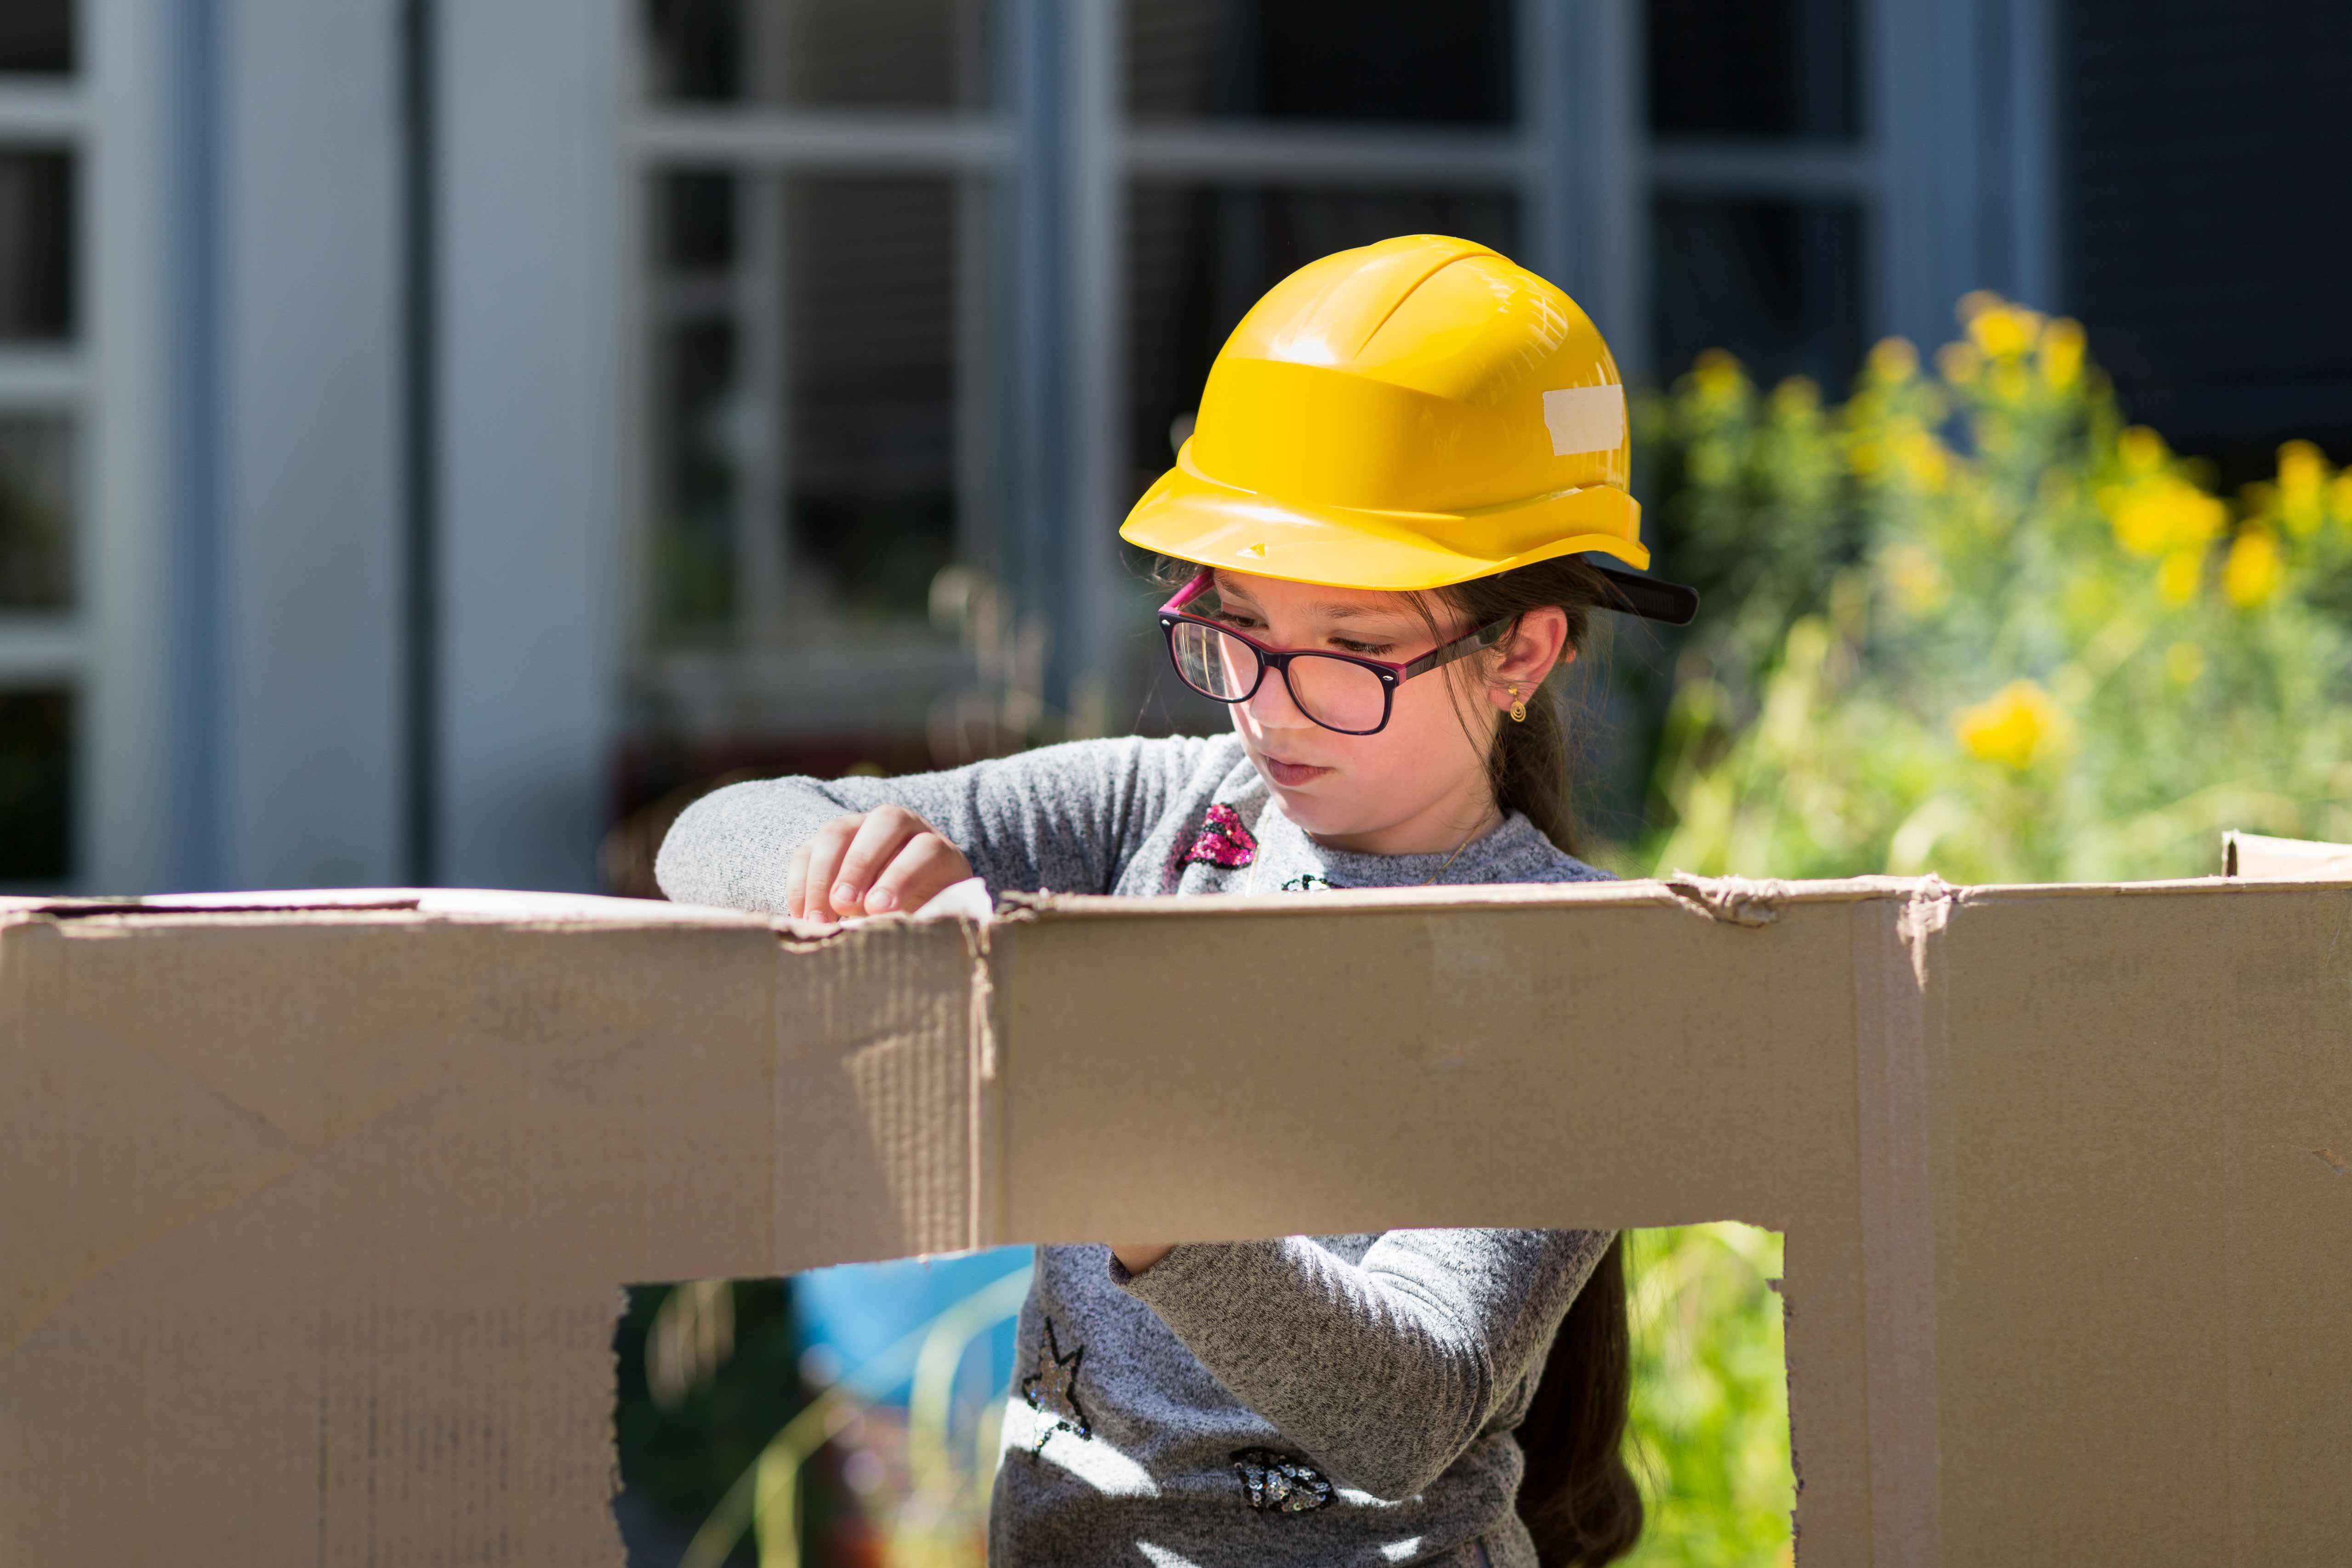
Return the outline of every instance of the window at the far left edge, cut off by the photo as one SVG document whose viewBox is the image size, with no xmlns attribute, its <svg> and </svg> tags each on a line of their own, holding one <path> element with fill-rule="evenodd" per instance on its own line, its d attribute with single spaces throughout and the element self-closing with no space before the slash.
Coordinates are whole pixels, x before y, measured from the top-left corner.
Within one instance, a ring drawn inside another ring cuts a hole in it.
<svg viewBox="0 0 2352 1568">
<path fill-rule="evenodd" d="M 0 14 L 0 889 L 78 872 L 85 103 L 66 0 Z"/>
</svg>

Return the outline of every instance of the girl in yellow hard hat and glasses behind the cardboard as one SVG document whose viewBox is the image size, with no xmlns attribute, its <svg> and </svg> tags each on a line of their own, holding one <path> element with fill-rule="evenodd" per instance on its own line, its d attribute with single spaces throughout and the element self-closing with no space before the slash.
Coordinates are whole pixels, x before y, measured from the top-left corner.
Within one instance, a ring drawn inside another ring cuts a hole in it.
<svg viewBox="0 0 2352 1568">
<path fill-rule="evenodd" d="M 670 898 L 837 919 L 995 891 L 1588 882 L 1545 677 L 1590 609 L 1689 621 L 1625 491 L 1585 315 L 1414 235 L 1242 320 L 1122 536 L 1176 585 L 1176 672 L 1232 733 L 694 804 Z M 1625 1554 L 1611 1232 L 1421 1229 L 1040 1248 L 990 1561 L 1566 1568 Z"/>
</svg>

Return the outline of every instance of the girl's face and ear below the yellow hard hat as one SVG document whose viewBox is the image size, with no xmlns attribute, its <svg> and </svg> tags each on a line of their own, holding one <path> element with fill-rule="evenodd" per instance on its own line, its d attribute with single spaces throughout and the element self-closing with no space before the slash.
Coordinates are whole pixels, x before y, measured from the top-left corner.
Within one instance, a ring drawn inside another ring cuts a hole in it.
<svg viewBox="0 0 2352 1568">
<path fill-rule="evenodd" d="M 1202 595 L 1209 599 L 1209 595 Z M 1404 663 L 1475 628 L 1435 595 L 1437 637 L 1414 595 L 1322 588 L 1242 571 L 1216 574 L 1216 597 L 1195 614 L 1270 649 L 1317 649 Z M 1566 616 L 1534 609 L 1517 637 L 1395 689 L 1388 726 L 1343 736 L 1298 712 L 1272 670 L 1247 703 L 1230 703 L 1242 750 L 1284 816 L 1331 849 L 1444 853 L 1494 825 L 1486 752 L 1510 705 L 1562 658 Z M 1573 658 L 1573 654 L 1569 654 Z"/>
</svg>

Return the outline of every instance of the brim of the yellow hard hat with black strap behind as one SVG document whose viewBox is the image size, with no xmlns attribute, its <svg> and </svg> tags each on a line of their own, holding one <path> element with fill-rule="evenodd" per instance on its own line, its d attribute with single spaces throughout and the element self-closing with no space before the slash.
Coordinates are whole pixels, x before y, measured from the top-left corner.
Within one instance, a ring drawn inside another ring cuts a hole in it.
<svg viewBox="0 0 2352 1568">
<path fill-rule="evenodd" d="M 1284 501 L 1218 484 L 1183 458 L 1160 475 L 1120 527 L 1120 538 L 1160 555 L 1294 583 L 1411 592 L 1599 552 L 1646 567 L 1642 505 L 1613 484 L 1585 484 L 1477 512 L 1385 512 Z M 1463 548 L 1465 538 L 1489 548 Z M 1698 595 L 1677 583 L 1602 567 L 1621 604 L 1682 625 Z"/>
</svg>

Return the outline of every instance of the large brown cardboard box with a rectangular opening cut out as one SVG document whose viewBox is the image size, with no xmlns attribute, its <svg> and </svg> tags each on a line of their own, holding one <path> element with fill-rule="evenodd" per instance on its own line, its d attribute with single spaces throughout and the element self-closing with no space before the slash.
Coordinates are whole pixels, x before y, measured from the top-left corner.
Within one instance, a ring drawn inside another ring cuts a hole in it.
<svg viewBox="0 0 2352 1568">
<path fill-rule="evenodd" d="M 623 1281 L 1726 1218 L 1806 1568 L 2352 1542 L 2345 884 L 0 922 L 0 1563 L 619 1563 Z"/>
</svg>

